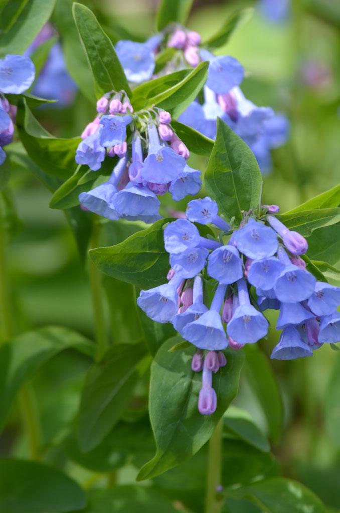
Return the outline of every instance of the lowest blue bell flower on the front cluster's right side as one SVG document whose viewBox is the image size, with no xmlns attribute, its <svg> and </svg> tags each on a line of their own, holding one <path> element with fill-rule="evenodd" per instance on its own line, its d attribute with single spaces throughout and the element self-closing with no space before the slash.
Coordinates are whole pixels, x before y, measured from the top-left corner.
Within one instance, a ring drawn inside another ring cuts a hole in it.
<svg viewBox="0 0 340 513">
<path fill-rule="evenodd" d="M 295 360 L 305 356 L 312 356 L 313 351 L 300 336 L 294 326 L 287 326 L 280 336 L 278 344 L 274 347 L 270 356 L 276 360 Z"/>
</svg>

